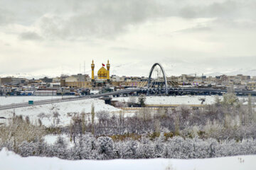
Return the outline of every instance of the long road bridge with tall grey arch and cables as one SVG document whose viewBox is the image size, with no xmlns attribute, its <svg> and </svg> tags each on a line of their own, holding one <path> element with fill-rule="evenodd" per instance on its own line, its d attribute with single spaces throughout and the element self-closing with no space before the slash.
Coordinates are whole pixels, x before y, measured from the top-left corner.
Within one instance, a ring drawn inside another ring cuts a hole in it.
<svg viewBox="0 0 256 170">
<path fill-rule="evenodd" d="M 152 72 L 156 66 L 159 66 L 161 72 L 163 74 L 163 81 L 153 81 L 152 79 Z M 119 91 L 112 91 L 107 92 L 105 94 L 91 94 L 88 96 L 79 96 L 79 97 L 68 97 L 68 98 L 55 98 L 50 100 L 42 100 L 42 101 L 34 101 L 33 105 L 28 103 L 16 103 L 10 105 L 1 105 L 0 110 L 6 110 L 10 108 L 21 108 L 26 106 L 35 106 L 35 105 L 43 105 L 43 104 L 50 104 L 50 103 L 60 103 L 65 101 L 78 101 L 78 100 L 85 100 L 87 98 L 101 98 L 106 96 L 120 96 L 120 95 L 139 95 L 139 94 L 146 94 L 146 95 L 154 95 L 154 94 L 164 94 L 164 95 L 185 95 L 185 94 L 196 94 L 196 95 L 211 95 L 211 94 L 218 94 L 222 95 L 227 93 L 227 90 L 220 90 L 220 89 L 198 89 L 198 88 L 182 88 L 179 86 L 172 86 L 168 85 L 168 81 L 166 78 L 166 73 L 164 72 L 164 67 L 161 66 L 159 63 L 155 63 L 149 72 L 149 77 L 146 81 L 146 86 L 144 87 L 137 87 L 137 88 L 129 88 L 123 89 Z M 163 86 L 155 86 L 155 85 L 163 85 Z M 235 90 L 235 94 L 237 95 L 249 95 L 256 96 L 256 91 L 242 91 L 242 90 Z"/>
</svg>

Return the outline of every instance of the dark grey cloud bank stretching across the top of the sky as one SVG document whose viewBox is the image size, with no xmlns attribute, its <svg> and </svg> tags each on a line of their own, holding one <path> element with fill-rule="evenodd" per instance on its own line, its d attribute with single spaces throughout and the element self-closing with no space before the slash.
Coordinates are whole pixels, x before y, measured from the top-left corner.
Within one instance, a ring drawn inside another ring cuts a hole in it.
<svg viewBox="0 0 256 170">
<path fill-rule="evenodd" d="M 255 21 L 256 3 L 250 1 L 168 1 L 168 0 L 55 0 L 0 2 L 9 14 L 0 9 L 1 20 L 14 13 L 13 22 L 34 24 L 44 38 L 55 40 L 90 40 L 116 38 L 129 26 L 154 18 L 217 18 L 217 22 L 246 18 Z M 2 18 L 2 19 L 1 19 Z M 224 21 L 223 21 L 224 20 Z M 10 20 L 11 21 L 11 20 Z M 256 23 L 250 23 L 256 26 Z M 197 29 L 199 31 L 199 29 Z"/>
</svg>

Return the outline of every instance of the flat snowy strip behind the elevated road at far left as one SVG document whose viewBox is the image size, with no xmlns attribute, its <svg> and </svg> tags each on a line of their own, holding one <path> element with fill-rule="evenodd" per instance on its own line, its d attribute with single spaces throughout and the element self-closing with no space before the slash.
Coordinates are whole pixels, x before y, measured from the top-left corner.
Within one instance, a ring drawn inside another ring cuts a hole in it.
<svg viewBox="0 0 256 170">
<path fill-rule="evenodd" d="M 75 96 L 63 96 L 75 97 Z M 0 96 L 0 106 L 14 103 L 24 103 L 28 101 L 42 101 L 48 99 L 62 98 L 62 96 Z"/>
</svg>

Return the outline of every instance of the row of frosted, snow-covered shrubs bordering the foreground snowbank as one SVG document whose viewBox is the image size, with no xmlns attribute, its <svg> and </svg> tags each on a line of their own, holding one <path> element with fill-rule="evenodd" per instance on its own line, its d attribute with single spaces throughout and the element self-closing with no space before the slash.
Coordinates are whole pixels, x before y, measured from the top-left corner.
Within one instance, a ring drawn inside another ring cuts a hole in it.
<svg viewBox="0 0 256 170">
<path fill-rule="evenodd" d="M 5 146 L 1 146 L 5 147 Z M 163 133 L 154 140 L 146 134 L 141 140 L 125 140 L 113 142 L 110 137 L 98 137 L 87 134 L 79 137 L 75 145 L 67 147 L 63 137 L 53 145 L 44 142 L 22 142 L 16 147 L 9 147 L 23 157 L 43 156 L 60 157 L 62 159 L 142 159 L 142 158 L 175 158 L 197 159 L 210 157 L 226 157 L 241 154 L 256 154 L 256 140 L 217 140 L 198 137 L 172 137 L 166 141 Z"/>
</svg>

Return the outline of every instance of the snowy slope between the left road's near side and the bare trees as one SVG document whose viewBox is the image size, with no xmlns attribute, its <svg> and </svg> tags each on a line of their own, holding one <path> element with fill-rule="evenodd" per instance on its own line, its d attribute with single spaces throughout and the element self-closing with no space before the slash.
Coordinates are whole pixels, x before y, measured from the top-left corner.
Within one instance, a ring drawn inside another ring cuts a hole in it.
<svg viewBox="0 0 256 170">
<path fill-rule="evenodd" d="M 40 106 L 28 106 L 23 108 L 16 108 L 0 111 L 0 117 L 11 118 L 13 113 L 16 115 L 23 115 L 24 117 L 28 115 L 32 122 L 41 119 L 43 125 L 68 125 L 70 119 L 76 113 L 87 113 L 90 115 L 92 103 L 95 106 L 95 112 L 97 111 L 119 111 L 118 108 L 105 104 L 105 101 L 100 99 L 85 99 L 80 101 L 67 101 L 61 103 L 46 104 Z M 53 113 L 59 113 L 60 122 L 57 124 L 57 119 L 53 117 Z M 90 118 L 90 116 L 87 116 Z"/>
</svg>

